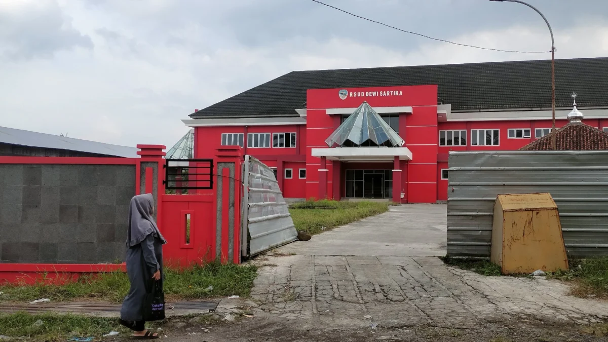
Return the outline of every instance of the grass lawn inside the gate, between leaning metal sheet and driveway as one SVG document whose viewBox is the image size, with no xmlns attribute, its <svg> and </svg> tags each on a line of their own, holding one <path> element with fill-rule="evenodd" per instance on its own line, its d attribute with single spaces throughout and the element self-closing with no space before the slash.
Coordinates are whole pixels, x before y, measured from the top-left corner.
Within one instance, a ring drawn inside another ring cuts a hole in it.
<svg viewBox="0 0 608 342">
<path fill-rule="evenodd" d="M 306 201 L 293 204 L 289 212 L 297 231 L 314 235 L 388 211 L 389 204 L 365 201 Z"/>
</svg>

